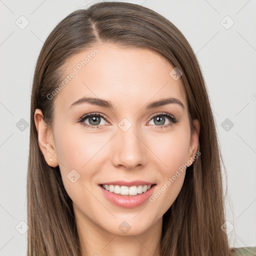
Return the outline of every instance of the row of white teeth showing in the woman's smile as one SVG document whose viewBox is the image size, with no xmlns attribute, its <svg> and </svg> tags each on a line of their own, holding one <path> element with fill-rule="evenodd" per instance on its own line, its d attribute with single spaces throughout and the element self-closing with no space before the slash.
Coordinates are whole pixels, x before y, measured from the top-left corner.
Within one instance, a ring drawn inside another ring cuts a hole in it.
<svg viewBox="0 0 256 256">
<path fill-rule="evenodd" d="M 136 195 L 141 194 L 150 189 L 151 185 L 138 185 L 138 186 L 119 186 L 119 185 L 102 185 L 109 192 L 122 195 Z"/>
</svg>

